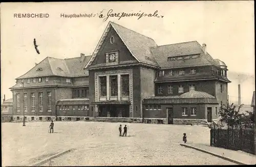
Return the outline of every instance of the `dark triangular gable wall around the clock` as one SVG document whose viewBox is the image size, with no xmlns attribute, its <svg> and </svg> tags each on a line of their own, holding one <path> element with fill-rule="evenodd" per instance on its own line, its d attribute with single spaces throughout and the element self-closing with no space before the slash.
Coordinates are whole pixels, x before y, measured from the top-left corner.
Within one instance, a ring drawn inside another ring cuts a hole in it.
<svg viewBox="0 0 256 167">
<path fill-rule="evenodd" d="M 114 43 L 112 44 L 110 38 L 114 37 Z M 92 65 L 104 64 L 106 63 L 106 53 L 117 51 L 118 52 L 118 62 L 133 61 L 138 63 L 138 61 L 133 57 L 129 49 L 125 46 L 122 39 L 118 36 L 113 26 L 110 26 L 109 32 L 106 34 L 102 45 L 100 46 Z"/>
</svg>

